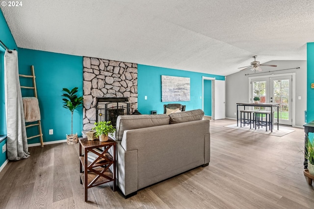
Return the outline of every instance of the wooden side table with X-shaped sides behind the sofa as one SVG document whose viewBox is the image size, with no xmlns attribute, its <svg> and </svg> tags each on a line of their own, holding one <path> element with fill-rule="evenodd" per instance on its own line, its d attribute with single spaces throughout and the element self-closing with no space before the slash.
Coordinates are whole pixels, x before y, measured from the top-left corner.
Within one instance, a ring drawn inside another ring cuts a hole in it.
<svg viewBox="0 0 314 209">
<path fill-rule="evenodd" d="M 113 147 L 110 155 L 108 150 Z M 103 149 L 101 149 L 103 148 Z M 84 151 L 82 153 L 82 150 Z M 112 190 L 116 190 L 116 141 L 79 139 L 80 183 L 84 186 L 85 202 L 87 189 L 113 181 Z M 111 169 L 109 167 L 111 166 Z"/>
</svg>

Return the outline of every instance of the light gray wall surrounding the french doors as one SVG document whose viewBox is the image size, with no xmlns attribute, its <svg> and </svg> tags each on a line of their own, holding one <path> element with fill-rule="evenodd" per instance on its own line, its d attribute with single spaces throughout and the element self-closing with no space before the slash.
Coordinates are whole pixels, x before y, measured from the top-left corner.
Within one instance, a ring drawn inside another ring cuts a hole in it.
<svg viewBox="0 0 314 209">
<path fill-rule="evenodd" d="M 255 74 L 252 70 L 243 70 L 237 73 L 226 76 L 226 117 L 236 118 L 236 103 L 237 102 L 249 102 L 249 77 L 262 76 L 270 74 L 284 74 L 295 72 L 295 125 L 302 127 L 305 124 L 304 111 L 306 110 L 307 94 L 306 94 L 306 83 L 307 83 L 307 62 L 306 61 L 271 61 L 264 63 L 267 65 L 277 65 L 277 68 L 263 67 L 263 73 Z M 289 68 L 297 68 L 292 70 L 283 70 Z M 274 71 L 281 70 L 281 71 Z M 273 71 L 273 72 L 269 72 Z M 245 75 L 249 74 L 249 75 Z M 301 96 L 301 99 L 298 99 Z"/>
</svg>

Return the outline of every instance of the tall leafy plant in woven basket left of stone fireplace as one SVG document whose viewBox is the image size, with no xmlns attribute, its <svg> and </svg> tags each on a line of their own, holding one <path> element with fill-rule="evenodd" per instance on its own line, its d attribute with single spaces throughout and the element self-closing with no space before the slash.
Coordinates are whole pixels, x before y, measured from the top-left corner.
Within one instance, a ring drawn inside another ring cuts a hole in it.
<svg viewBox="0 0 314 209">
<path fill-rule="evenodd" d="M 67 136 L 68 144 L 78 143 L 78 133 L 73 134 L 73 112 L 75 109 L 80 107 L 83 104 L 83 97 L 78 95 L 78 87 L 73 88 L 71 91 L 67 88 L 63 88 L 62 91 L 65 93 L 62 94 L 65 98 L 63 98 L 63 107 L 71 111 L 71 134 Z"/>
</svg>

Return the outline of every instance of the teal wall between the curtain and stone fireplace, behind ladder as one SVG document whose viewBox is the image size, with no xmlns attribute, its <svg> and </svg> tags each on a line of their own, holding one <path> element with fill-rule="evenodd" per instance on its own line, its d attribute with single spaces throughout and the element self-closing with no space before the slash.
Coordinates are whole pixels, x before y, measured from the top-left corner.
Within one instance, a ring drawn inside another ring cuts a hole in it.
<svg viewBox="0 0 314 209">
<path fill-rule="evenodd" d="M 66 134 L 71 134 L 71 112 L 62 107 L 62 89 L 78 87 L 78 95 L 83 95 L 83 58 L 25 48 L 18 49 L 18 57 L 20 74 L 31 74 L 31 65 L 35 69 L 44 142 L 66 139 Z M 24 83 L 27 81 L 21 80 L 21 85 Z M 22 95 L 32 96 L 33 91 L 23 90 Z M 80 107 L 73 115 L 73 133 L 78 136 L 83 128 L 82 118 Z M 49 129 L 53 129 L 53 135 L 49 135 Z M 30 130 L 35 131 L 36 128 Z M 29 144 L 39 142 L 39 138 L 28 141 Z"/>
</svg>

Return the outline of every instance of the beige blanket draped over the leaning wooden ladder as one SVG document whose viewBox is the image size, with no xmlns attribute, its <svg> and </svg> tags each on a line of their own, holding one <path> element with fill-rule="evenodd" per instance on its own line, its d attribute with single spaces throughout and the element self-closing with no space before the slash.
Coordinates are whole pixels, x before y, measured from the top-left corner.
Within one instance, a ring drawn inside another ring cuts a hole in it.
<svg viewBox="0 0 314 209">
<path fill-rule="evenodd" d="M 39 103 L 36 97 L 23 97 L 25 122 L 40 120 Z"/>
</svg>

